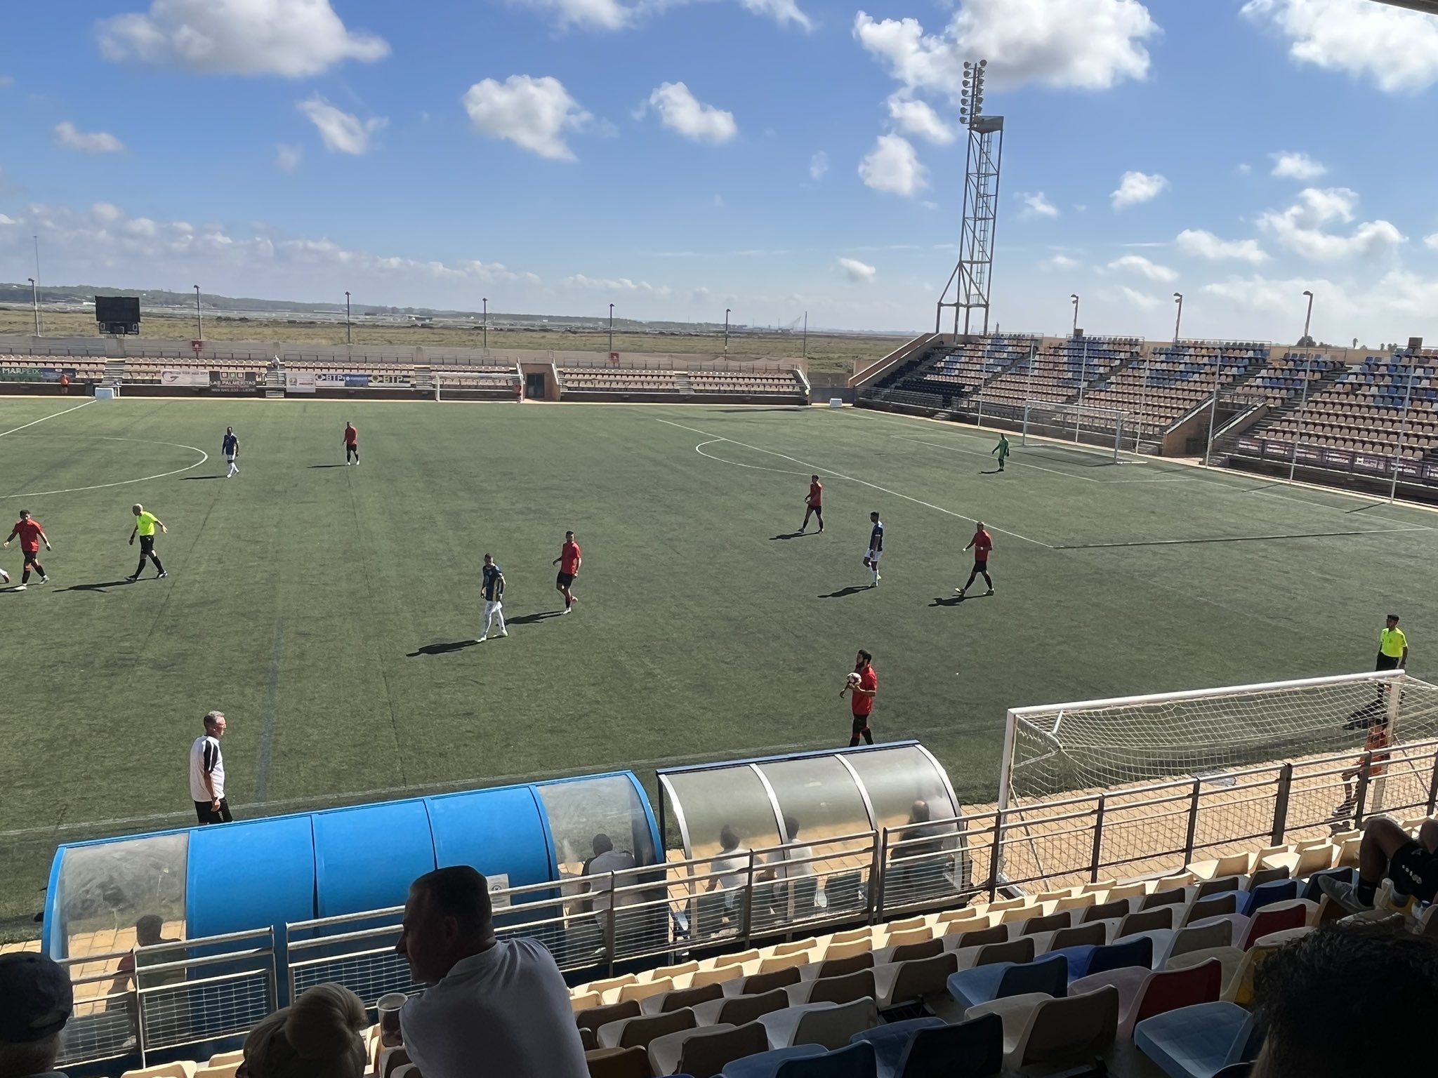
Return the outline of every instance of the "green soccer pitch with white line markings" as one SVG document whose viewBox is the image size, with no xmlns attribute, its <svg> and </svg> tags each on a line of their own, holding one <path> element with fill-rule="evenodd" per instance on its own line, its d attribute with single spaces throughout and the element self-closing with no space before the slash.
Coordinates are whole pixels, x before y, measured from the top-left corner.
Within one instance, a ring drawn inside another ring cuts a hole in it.
<svg viewBox="0 0 1438 1078">
<path fill-rule="evenodd" d="M 846 743 L 863 647 L 876 736 L 989 802 L 1007 707 L 1366 670 L 1389 609 L 1411 673 L 1438 671 L 1434 515 L 1055 444 L 997 474 L 992 444 L 854 410 L 0 401 L 3 525 L 30 509 L 55 543 L 49 585 L 0 591 L 0 920 L 40 907 L 56 842 L 193 822 L 210 709 L 237 816 L 651 782 Z M 827 530 L 792 536 L 811 471 Z M 137 500 L 170 526 L 168 579 L 124 582 Z M 974 517 L 998 594 L 959 602 Z M 561 618 L 565 529 L 584 571 Z M 486 552 L 510 632 L 476 645 Z M 0 566 L 19 581 L 17 543 Z"/>
</svg>

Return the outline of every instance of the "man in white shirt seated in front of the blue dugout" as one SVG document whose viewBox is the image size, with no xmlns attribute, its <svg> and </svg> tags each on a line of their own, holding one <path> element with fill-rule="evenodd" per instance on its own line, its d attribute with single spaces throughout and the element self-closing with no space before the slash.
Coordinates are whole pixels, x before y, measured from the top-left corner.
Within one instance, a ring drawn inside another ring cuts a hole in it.
<svg viewBox="0 0 1438 1078">
<path fill-rule="evenodd" d="M 395 950 L 429 985 L 400 1012 L 424 1078 L 588 1078 L 559 967 L 538 940 L 495 939 L 489 885 L 469 865 L 410 884 Z"/>
</svg>

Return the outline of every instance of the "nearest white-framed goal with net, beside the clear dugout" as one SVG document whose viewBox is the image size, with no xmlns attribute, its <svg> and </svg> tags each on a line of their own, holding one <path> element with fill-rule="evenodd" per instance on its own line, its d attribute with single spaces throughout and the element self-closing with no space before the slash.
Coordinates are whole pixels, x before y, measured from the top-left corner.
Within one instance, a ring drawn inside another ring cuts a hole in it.
<svg viewBox="0 0 1438 1078">
<path fill-rule="evenodd" d="M 1402 670 L 1020 707 L 995 860 L 1011 880 L 1166 872 L 1428 815 L 1435 791 L 1438 686 Z"/>
</svg>

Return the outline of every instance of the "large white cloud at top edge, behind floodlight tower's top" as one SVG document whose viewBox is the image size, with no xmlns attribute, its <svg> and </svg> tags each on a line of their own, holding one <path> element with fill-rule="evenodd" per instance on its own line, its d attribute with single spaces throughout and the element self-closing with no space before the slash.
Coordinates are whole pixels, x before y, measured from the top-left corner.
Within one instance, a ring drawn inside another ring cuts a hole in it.
<svg viewBox="0 0 1438 1078">
<path fill-rule="evenodd" d="M 939 33 L 917 19 L 854 17 L 854 36 L 910 91 L 958 98 L 963 60 L 984 56 L 995 89 L 1109 89 L 1143 79 L 1158 24 L 1139 0 L 966 0 Z"/>
</svg>

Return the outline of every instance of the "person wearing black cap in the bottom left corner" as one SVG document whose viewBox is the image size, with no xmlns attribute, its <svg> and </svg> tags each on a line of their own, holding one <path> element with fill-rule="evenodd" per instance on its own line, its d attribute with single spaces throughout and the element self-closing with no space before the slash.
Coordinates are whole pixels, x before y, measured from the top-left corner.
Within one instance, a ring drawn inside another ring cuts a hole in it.
<svg viewBox="0 0 1438 1078">
<path fill-rule="evenodd" d="M 65 1078 L 55 1069 L 70 1019 L 70 977 L 45 954 L 0 954 L 0 1078 Z"/>
</svg>

